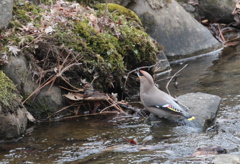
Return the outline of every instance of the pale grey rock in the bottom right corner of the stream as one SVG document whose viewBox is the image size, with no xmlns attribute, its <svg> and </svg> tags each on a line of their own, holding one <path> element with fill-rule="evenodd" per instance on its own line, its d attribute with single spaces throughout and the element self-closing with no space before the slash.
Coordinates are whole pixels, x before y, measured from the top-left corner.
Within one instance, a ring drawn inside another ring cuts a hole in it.
<svg viewBox="0 0 240 164">
<path fill-rule="evenodd" d="M 239 164 L 240 163 L 240 155 L 236 154 L 221 154 L 216 156 L 216 158 L 212 161 L 214 164 Z"/>
</svg>

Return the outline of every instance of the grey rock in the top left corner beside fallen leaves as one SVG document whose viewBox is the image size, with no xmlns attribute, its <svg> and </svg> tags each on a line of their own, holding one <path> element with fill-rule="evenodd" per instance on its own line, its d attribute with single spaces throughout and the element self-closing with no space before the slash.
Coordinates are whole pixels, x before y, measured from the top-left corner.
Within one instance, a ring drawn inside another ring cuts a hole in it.
<svg viewBox="0 0 240 164">
<path fill-rule="evenodd" d="M 0 1 L 0 28 L 6 27 L 12 19 L 13 0 Z"/>
</svg>

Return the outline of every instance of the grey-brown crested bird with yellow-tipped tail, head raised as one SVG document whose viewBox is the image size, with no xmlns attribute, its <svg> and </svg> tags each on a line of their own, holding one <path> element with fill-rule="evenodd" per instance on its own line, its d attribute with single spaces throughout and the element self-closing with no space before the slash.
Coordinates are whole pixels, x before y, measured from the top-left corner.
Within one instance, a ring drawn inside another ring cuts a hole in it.
<svg viewBox="0 0 240 164">
<path fill-rule="evenodd" d="M 186 112 L 171 95 L 158 89 L 152 76 L 144 71 L 136 71 L 140 79 L 140 99 L 143 106 L 160 118 L 184 117 L 188 121 L 195 119 L 194 116 Z"/>
</svg>

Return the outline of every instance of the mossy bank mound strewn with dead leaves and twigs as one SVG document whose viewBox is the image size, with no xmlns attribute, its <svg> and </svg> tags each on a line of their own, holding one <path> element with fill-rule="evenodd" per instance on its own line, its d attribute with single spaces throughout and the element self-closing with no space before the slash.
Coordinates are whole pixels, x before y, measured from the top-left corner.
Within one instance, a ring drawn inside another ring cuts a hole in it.
<svg viewBox="0 0 240 164">
<path fill-rule="evenodd" d="M 155 64 L 159 46 L 129 9 L 116 4 L 92 6 L 17 2 L 13 20 L 0 33 L 0 55 L 24 55 L 30 78 L 39 84 L 67 66 L 81 63 L 62 72 L 65 81 L 58 76 L 55 84 L 81 88 L 95 79 L 96 90 L 121 90 L 127 71 Z"/>
</svg>

